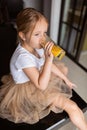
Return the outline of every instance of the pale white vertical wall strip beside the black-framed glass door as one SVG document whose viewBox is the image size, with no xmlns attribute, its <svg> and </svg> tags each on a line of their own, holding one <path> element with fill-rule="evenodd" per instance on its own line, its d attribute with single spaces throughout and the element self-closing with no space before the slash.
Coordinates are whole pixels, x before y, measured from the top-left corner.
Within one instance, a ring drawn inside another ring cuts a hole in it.
<svg viewBox="0 0 87 130">
<path fill-rule="evenodd" d="M 52 0 L 51 4 L 51 23 L 50 23 L 50 37 L 57 42 L 59 21 L 60 21 L 61 0 Z"/>
</svg>

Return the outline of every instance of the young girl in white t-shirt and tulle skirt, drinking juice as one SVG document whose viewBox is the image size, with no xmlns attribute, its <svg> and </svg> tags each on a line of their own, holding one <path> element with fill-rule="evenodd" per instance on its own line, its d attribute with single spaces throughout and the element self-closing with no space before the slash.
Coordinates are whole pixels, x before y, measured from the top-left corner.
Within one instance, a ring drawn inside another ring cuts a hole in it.
<svg viewBox="0 0 87 130">
<path fill-rule="evenodd" d="M 37 10 L 26 8 L 18 14 L 20 42 L 10 61 L 11 74 L 2 78 L 0 117 L 34 124 L 50 111 L 65 110 L 80 130 L 86 130 L 82 111 L 70 100 L 75 85 L 66 77 L 66 66 L 53 60 L 52 42 L 42 48 L 47 29 L 47 19 Z"/>
</svg>

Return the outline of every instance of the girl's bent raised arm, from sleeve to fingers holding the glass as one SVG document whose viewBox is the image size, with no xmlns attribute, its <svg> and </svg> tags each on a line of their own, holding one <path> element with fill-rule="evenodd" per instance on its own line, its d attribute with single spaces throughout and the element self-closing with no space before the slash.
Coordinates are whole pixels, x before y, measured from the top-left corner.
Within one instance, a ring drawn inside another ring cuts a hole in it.
<svg viewBox="0 0 87 130">
<path fill-rule="evenodd" d="M 37 88 L 42 90 L 46 89 L 50 80 L 53 61 L 53 55 L 51 53 L 52 47 L 53 44 L 49 42 L 45 46 L 45 63 L 41 72 L 39 72 L 39 70 L 37 70 L 35 67 L 23 69 L 24 73 L 29 77 L 31 82 L 33 82 Z"/>
</svg>

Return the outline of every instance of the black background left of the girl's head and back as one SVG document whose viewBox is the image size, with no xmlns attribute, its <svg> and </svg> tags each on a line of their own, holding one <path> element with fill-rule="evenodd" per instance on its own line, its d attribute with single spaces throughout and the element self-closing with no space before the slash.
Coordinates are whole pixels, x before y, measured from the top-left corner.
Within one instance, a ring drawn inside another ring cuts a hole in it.
<svg viewBox="0 0 87 130">
<path fill-rule="evenodd" d="M 22 9 L 22 0 L 0 0 L 0 79 L 10 72 L 9 62 L 17 42 L 15 20 Z"/>
</svg>

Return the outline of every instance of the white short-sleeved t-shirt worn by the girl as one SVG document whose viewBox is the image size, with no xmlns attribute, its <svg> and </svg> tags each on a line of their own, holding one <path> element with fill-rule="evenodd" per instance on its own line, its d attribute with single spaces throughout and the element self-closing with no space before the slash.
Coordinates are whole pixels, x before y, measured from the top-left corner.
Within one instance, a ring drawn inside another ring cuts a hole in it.
<svg viewBox="0 0 87 130">
<path fill-rule="evenodd" d="M 16 84 L 25 83 L 29 81 L 29 77 L 23 72 L 23 68 L 36 67 L 40 70 L 44 64 L 43 49 L 36 49 L 41 58 L 37 58 L 29 51 L 24 49 L 21 44 L 18 45 L 15 52 L 12 55 L 10 61 L 10 71 Z"/>
</svg>

